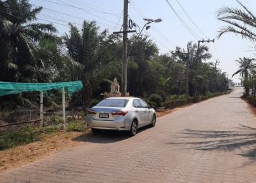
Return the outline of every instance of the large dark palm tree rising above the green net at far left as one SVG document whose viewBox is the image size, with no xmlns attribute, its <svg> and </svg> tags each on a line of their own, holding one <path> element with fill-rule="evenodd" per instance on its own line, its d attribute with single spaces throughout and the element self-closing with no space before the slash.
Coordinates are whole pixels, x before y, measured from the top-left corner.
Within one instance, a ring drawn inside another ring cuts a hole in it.
<svg viewBox="0 0 256 183">
<path fill-rule="evenodd" d="M 28 0 L 0 1 L 1 81 L 35 81 L 35 45 L 42 38 L 55 39 L 52 24 L 36 23 L 42 7 L 32 9 Z"/>
</svg>

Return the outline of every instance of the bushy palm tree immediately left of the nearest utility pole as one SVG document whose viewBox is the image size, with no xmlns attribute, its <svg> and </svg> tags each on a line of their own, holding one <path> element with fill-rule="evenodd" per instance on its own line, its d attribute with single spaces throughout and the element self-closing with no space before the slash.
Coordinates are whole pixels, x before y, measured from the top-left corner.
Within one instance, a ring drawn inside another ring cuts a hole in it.
<svg viewBox="0 0 256 183">
<path fill-rule="evenodd" d="M 84 90 L 74 99 L 77 105 L 88 106 L 93 91 L 97 90 L 100 81 L 120 73 L 120 48 L 118 38 L 108 35 L 107 31 L 98 33 L 96 22 L 83 22 L 79 31 L 70 24 L 70 35 L 65 35 L 68 55 L 79 63 L 79 67 L 70 68 L 73 80 L 82 80 Z"/>
</svg>

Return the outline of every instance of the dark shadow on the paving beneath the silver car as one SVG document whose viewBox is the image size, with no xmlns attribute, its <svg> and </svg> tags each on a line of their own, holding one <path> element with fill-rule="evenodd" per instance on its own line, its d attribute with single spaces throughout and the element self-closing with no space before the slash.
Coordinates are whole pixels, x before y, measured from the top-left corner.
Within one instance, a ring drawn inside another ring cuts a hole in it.
<svg viewBox="0 0 256 183">
<path fill-rule="evenodd" d="M 138 129 L 137 133 L 147 130 L 148 127 Z M 82 136 L 73 138 L 74 141 L 84 141 L 90 143 L 115 143 L 125 139 L 132 138 L 126 131 L 100 131 L 97 134 L 84 134 Z"/>
</svg>

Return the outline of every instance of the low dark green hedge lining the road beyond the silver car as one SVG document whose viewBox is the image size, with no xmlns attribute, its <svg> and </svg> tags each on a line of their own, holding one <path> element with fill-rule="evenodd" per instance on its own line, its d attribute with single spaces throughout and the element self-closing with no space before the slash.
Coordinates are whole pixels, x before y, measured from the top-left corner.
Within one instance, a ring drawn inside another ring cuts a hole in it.
<svg viewBox="0 0 256 183">
<path fill-rule="evenodd" d="M 183 99 L 174 99 L 174 100 L 170 100 L 170 101 L 167 101 L 167 102 L 163 102 L 162 105 L 166 109 L 173 109 L 175 107 L 200 102 L 202 100 L 207 100 L 207 99 L 212 98 L 212 97 L 217 97 L 217 96 L 222 95 L 222 94 L 223 93 L 207 93 L 207 95 L 202 95 L 202 96 L 196 97 L 196 98 L 195 97 L 186 97 L 186 98 L 183 98 Z M 256 99 L 255 99 L 255 101 L 256 101 Z M 255 102 L 255 104 L 256 104 L 256 102 Z"/>
</svg>

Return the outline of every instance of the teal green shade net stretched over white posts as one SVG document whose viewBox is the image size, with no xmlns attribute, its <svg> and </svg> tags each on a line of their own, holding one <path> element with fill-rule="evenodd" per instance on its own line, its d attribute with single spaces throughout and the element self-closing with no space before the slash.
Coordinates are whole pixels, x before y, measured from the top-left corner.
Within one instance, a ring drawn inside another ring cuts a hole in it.
<svg viewBox="0 0 256 183">
<path fill-rule="evenodd" d="M 63 82 L 63 83 L 10 83 L 0 81 L 0 96 L 17 94 L 21 92 L 34 92 L 47 90 L 60 90 L 61 88 L 67 88 L 68 95 L 71 95 L 83 88 L 81 81 Z"/>
</svg>

